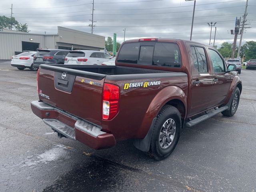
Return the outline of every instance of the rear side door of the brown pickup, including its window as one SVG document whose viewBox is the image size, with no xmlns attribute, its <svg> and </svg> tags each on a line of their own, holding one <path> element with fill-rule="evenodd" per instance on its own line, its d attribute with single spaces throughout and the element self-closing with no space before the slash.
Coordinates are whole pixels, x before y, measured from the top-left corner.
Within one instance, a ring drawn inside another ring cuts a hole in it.
<svg viewBox="0 0 256 192">
<path fill-rule="evenodd" d="M 192 74 L 189 116 L 192 116 L 212 106 L 212 70 L 203 46 L 190 44 L 188 49 Z"/>
</svg>

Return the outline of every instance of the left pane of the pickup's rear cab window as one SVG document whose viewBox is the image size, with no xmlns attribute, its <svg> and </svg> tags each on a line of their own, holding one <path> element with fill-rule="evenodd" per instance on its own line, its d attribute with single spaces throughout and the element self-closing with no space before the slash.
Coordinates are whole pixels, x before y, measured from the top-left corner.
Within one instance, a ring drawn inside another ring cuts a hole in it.
<svg viewBox="0 0 256 192">
<path fill-rule="evenodd" d="M 126 43 L 122 46 L 117 62 L 137 64 L 140 43 Z"/>
</svg>

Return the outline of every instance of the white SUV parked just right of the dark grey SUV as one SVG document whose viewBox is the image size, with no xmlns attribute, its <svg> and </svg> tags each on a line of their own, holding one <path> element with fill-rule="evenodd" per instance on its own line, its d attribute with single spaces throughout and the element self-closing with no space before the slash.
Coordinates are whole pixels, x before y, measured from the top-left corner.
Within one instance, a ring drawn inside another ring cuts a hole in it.
<svg viewBox="0 0 256 192">
<path fill-rule="evenodd" d="M 102 51 L 77 50 L 70 51 L 64 64 L 74 65 L 101 65 L 104 61 L 108 61 L 112 56 Z"/>
</svg>

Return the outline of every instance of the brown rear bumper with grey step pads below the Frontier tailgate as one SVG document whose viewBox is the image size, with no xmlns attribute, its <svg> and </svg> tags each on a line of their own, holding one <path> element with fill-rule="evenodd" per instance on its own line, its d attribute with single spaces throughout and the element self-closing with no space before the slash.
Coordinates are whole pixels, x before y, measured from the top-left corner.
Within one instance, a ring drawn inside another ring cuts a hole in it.
<svg viewBox="0 0 256 192">
<path fill-rule="evenodd" d="M 58 135 L 78 140 L 93 149 L 109 148 L 116 145 L 114 136 L 103 132 L 100 126 L 63 112 L 49 104 L 33 101 L 31 109 L 36 116 L 43 119 L 44 123 L 58 132 Z"/>
</svg>

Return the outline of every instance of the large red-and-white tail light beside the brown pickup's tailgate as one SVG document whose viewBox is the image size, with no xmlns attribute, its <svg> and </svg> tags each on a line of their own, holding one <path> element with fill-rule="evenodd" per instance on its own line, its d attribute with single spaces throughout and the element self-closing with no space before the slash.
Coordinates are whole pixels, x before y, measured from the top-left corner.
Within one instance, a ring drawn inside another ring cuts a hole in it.
<svg viewBox="0 0 256 192">
<path fill-rule="evenodd" d="M 105 83 L 102 94 L 102 119 L 111 120 L 119 111 L 119 87 Z"/>
</svg>

